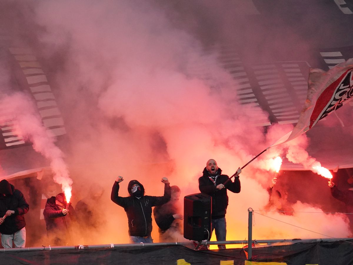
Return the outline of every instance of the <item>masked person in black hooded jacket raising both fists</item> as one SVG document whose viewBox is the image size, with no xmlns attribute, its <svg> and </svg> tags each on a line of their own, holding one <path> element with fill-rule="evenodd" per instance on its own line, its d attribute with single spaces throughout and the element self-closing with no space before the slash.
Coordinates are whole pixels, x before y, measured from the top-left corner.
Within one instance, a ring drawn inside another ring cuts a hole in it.
<svg viewBox="0 0 353 265">
<path fill-rule="evenodd" d="M 110 199 L 117 205 L 124 207 L 128 219 L 130 243 L 153 243 L 151 237 L 152 207 L 165 204 L 170 200 L 168 178 L 161 179 L 161 182 L 164 183 L 164 195 L 158 197 L 145 195 L 143 185 L 135 179 L 127 185 L 130 196 L 120 197 L 118 195 L 119 183 L 123 180 L 124 178 L 121 176 L 116 178 Z"/>
</svg>

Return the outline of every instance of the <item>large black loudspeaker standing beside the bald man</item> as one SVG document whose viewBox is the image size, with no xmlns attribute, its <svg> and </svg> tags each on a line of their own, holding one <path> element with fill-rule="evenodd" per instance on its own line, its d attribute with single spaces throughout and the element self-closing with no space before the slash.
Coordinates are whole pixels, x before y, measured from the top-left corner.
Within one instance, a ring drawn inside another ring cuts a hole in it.
<svg viewBox="0 0 353 265">
<path fill-rule="evenodd" d="M 212 197 L 196 193 L 184 197 L 184 237 L 202 241 L 211 237 Z"/>
</svg>

